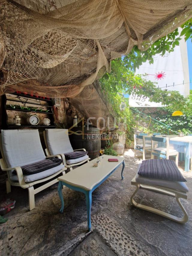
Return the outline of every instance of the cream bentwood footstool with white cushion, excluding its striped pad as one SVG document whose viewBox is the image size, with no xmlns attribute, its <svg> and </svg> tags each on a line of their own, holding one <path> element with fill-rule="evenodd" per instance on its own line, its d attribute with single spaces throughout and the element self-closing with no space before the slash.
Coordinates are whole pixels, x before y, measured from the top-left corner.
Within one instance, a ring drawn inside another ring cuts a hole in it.
<svg viewBox="0 0 192 256">
<path fill-rule="evenodd" d="M 151 161 L 152 159 L 150 159 Z M 167 160 L 170 161 L 170 160 Z M 140 164 L 141 165 L 141 164 Z M 131 203 L 136 206 L 137 208 L 149 211 L 149 212 L 153 212 L 156 213 L 158 215 L 164 216 L 168 219 L 171 219 L 173 221 L 179 222 L 179 223 L 185 223 L 188 220 L 188 215 L 186 210 L 184 209 L 180 198 L 184 198 L 187 199 L 187 192 L 188 192 L 188 187 L 185 184 L 185 182 L 179 182 L 179 181 L 170 181 L 170 180 L 165 180 L 165 179 L 156 179 L 156 178 L 150 178 L 150 177 L 144 177 L 138 174 L 139 170 L 140 170 L 140 165 L 138 167 L 137 170 L 137 174 L 135 175 L 135 177 L 132 179 L 131 181 L 131 185 L 135 185 L 136 186 L 136 190 L 134 191 L 134 193 L 131 196 Z M 139 188 L 145 188 L 145 189 L 149 189 L 152 191 L 156 191 L 156 192 L 160 192 L 163 194 L 167 194 L 170 196 L 173 196 L 176 198 L 177 203 L 179 204 L 179 206 L 181 207 L 184 216 L 183 217 L 176 217 L 175 215 L 172 215 L 170 213 L 167 212 L 163 212 L 161 210 L 140 204 L 140 203 L 136 203 L 135 200 L 133 199 L 133 197 L 135 196 L 135 194 L 137 193 L 137 191 L 139 190 Z"/>
</svg>

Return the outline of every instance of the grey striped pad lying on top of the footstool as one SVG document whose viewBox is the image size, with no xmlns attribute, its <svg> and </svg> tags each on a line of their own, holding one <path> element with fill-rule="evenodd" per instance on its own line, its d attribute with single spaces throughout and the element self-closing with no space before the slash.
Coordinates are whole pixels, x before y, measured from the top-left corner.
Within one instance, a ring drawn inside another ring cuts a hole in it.
<svg viewBox="0 0 192 256">
<path fill-rule="evenodd" d="M 186 182 L 176 163 L 168 159 L 147 159 L 140 166 L 138 174 L 153 179 Z"/>
</svg>

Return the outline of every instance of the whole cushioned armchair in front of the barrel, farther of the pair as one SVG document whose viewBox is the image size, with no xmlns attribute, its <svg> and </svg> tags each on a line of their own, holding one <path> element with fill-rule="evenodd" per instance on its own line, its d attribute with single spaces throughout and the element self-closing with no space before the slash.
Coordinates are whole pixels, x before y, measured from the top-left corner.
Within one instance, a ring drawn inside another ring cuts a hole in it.
<svg viewBox="0 0 192 256">
<path fill-rule="evenodd" d="M 79 135 L 80 136 L 80 135 Z M 77 166 L 83 164 L 85 162 L 89 162 L 90 158 L 88 155 L 85 155 L 80 158 L 67 160 L 65 159 L 64 154 L 73 152 L 73 151 L 86 151 L 85 149 L 75 149 L 73 150 L 67 129 L 45 129 L 44 131 L 44 140 L 45 140 L 45 153 L 47 156 L 49 155 L 60 155 L 63 164 L 65 167 L 69 168 L 70 171 L 73 170 L 73 166 Z"/>
</svg>

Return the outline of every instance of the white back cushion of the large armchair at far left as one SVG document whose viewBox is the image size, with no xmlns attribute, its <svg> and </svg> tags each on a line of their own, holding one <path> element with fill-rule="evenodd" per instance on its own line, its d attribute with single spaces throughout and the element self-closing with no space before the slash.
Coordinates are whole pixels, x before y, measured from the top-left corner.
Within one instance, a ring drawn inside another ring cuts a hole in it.
<svg viewBox="0 0 192 256">
<path fill-rule="evenodd" d="M 9 168 L 45 159 L 37 129 L 1 130 L 1 140 L 4 158 Z"/>
</svg>

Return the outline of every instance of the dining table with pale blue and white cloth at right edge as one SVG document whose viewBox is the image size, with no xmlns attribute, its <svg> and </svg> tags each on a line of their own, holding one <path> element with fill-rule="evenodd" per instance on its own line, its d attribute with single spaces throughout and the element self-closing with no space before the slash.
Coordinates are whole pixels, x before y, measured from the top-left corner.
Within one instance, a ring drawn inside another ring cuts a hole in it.
<svg viewBox="0 0 192 256">
<path fill-rule="evenodd" d="M 178 135 L 156 135 L 155 137 L 168 137 L 170 149 L 176 149 L 179 153 L 185 154 L 185 171 L 188 172 L 190 170 L 190 161 L 192 159 L 192 136 L 179 137 Z M 149 138 L 151 139 L 151 136 L 145 135 L 145 138 L 146 140 L 149 140 Z"/>
</svg>

